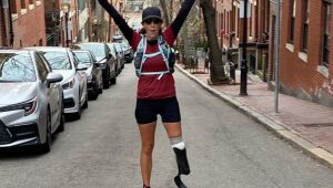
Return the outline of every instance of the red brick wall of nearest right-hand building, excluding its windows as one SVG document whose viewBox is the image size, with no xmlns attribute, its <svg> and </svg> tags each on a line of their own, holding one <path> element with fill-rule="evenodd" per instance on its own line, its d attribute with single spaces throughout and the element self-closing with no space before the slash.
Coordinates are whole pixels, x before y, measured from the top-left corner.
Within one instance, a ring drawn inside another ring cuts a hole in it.
<svg viewBox="0 0 333 188">
<path fill-rule="evenodd" d="M 290 44 L 290 0 L 283 1 L 282 34 L 281 34 L 281 83 L 285 93 L 301 98 L 312 100 L 327 106 L 333 106 L 333 51 L 329 69 L 321 65 L 322 61 L 322 25 L 323 1 L 310 0 L 309 50 L 302 53 L 302 0 L 296 0 L 294 43 Z M 331 9 L 331 27 L 333 27 L 333 9 Z M 331 28 L 332 49 L 333 28 Z M 306 60 L 307 55 L 307 60 Z M 324 71 L 319 71 L 319 69 Z M 326 76 L 324 75 L 326 72 Z"/>
</svg>

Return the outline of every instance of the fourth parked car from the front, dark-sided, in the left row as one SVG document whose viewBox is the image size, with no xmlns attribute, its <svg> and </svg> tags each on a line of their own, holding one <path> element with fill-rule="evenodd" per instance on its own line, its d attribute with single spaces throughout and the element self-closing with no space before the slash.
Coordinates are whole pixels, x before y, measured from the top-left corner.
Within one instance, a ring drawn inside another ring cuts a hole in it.
<svg viewBox="0 0 333 188">
<path fill-rule="evenodd" d="M 117 83 L 117 60 L 110 54 L 110 49 L 105 43 L 87 42 L 75 44 L 81 50 L 89 50 L 97 58 L 98 63 L 101 64 L 103 73 L 103 86 L 109 88 L 110 83 Z"/>
</svg>

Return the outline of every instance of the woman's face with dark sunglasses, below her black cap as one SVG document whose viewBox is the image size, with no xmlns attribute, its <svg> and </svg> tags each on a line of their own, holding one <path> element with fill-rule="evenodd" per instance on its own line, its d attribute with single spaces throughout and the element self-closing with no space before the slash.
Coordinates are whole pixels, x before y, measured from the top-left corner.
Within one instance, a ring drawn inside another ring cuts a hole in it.
<svg viewBox="0 0 333 188">
<path fill-rule="evenodd" d="M 148 40 L 159 39 L 162 21 L 160 19 L 151 18 L 143 21 L 142 27 L 145 30 Z"/>
</svg>

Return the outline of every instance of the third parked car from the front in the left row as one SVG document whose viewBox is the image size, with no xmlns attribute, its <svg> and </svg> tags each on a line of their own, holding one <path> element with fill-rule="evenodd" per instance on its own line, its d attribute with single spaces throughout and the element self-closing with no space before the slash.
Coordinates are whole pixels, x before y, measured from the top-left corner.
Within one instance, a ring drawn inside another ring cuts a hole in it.
<svg viewBox="0 0 333 188">
<path fill-rule="evenodd" d="M 101 65 L 90 51 L 74 50 L 73 52 L 79 59 L 78 69 L 84 71 L 87 74 L 88 95 L 95 100 L 103 92 Z"/>
</svg>

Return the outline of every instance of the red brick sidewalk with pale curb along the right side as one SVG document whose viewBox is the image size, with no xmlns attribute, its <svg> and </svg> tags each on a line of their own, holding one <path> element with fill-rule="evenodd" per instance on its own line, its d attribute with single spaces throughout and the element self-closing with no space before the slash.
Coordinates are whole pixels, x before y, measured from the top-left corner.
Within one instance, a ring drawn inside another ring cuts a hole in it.
<svg viewBox="0 0 333 188">
<path fill-rule="evenodd" d="M 248 96 L 240 96 L 240 85 L 208 85 L 209 74 L 191 74 L 176 67 L 202 87 L 264 125 L 279 137 L 333 168 L 333 108 L 279 94 L 274 112 L 274 92 L 258 79 L 248 81 Z M 236 73 L 239 79 L 239 73 Z M 236 79 L 236 83 L 240 83 Z"/>
</svg>

